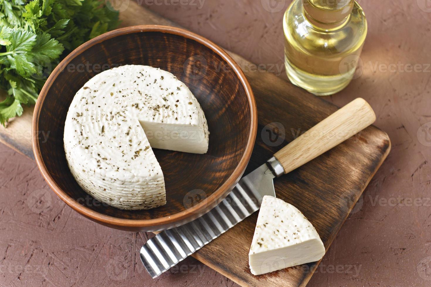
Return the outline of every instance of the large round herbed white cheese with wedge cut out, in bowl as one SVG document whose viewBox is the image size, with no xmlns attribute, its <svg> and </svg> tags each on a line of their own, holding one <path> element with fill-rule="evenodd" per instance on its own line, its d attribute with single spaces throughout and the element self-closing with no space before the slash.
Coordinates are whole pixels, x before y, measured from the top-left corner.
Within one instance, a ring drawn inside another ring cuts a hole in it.
<svg viewBox="0 0 431 287">
<path fill-rule="evenodd" d="M 125 210 L 166 204 L 153 148 L 203 154 L 208 126 L 199 102 L 173 74 L 142 65 L 103 71 L 76 93 L 64 148 L 72 175 L 94 198 Z"/>
</svg>

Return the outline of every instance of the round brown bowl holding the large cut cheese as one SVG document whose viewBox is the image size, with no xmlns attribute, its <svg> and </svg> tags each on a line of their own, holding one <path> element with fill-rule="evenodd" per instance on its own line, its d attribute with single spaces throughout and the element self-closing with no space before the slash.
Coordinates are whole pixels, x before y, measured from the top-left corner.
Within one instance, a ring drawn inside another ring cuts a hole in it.
<svg viewBox="0 0 431 287">
<path fill-rule="evenodd" d="M 188 154 L 154 149 L 166 182 L 167 204 L 152 210 L 119 210 L 91 198 L 69 171 L 63 148 L 66 114 L 91 77 L 117 65 L 150 65 L 169 71 L 196 96 L 208 120 L 209 150 Z M 246 77 L 219 46 L 178 28 L 135 26 L 79 46 L 51 73 L 33 116 L 33 151 L 53 191 L 83 216 L 113 228 L 172 228 L 215 207 L 240 179 L 256 138 L 257 112 Z M 48 139 L 38 139 L 38 134 Z"/>
</svg>

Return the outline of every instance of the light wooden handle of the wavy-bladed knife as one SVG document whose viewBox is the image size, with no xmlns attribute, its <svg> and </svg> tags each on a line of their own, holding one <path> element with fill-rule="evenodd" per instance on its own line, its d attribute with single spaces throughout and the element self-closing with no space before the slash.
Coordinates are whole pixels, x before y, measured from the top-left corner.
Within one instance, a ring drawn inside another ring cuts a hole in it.
<svg viewBox="0 0 431 287">
<path fill-rule="evenodd" d="M 355 99 L 329 117 L 290 142 L 274 156 L 288 173 L 359 131 L 365 129 L 376 119 L 371 106 L 361 98 Z"/>
</svg>

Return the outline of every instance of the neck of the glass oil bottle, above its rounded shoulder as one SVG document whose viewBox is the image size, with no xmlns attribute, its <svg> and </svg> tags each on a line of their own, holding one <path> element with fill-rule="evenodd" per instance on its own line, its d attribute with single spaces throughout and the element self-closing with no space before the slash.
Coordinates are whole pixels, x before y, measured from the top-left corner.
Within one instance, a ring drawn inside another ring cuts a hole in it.
<svg viewBox="0 0 431 287">
<path fill-rule="evenodd" d="M 302 0 L 306 19 L 316 28 L 335 30 L 344 25 L 355 5 L 354 0 Z"/>
</svg>

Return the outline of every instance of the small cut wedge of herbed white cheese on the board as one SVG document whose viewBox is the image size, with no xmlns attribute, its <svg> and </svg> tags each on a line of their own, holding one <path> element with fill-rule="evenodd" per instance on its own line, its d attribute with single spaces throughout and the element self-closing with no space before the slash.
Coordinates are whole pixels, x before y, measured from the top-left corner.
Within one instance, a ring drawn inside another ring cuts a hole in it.
<svg viewBox="0 0 431 287">
<path fill-rule="evenodd" d="M 308 219 L 293 205 L 265 195 L 248 255 L 251 273 L 315 262 L 324 255 L 322 240 Z"/>
</svg>

